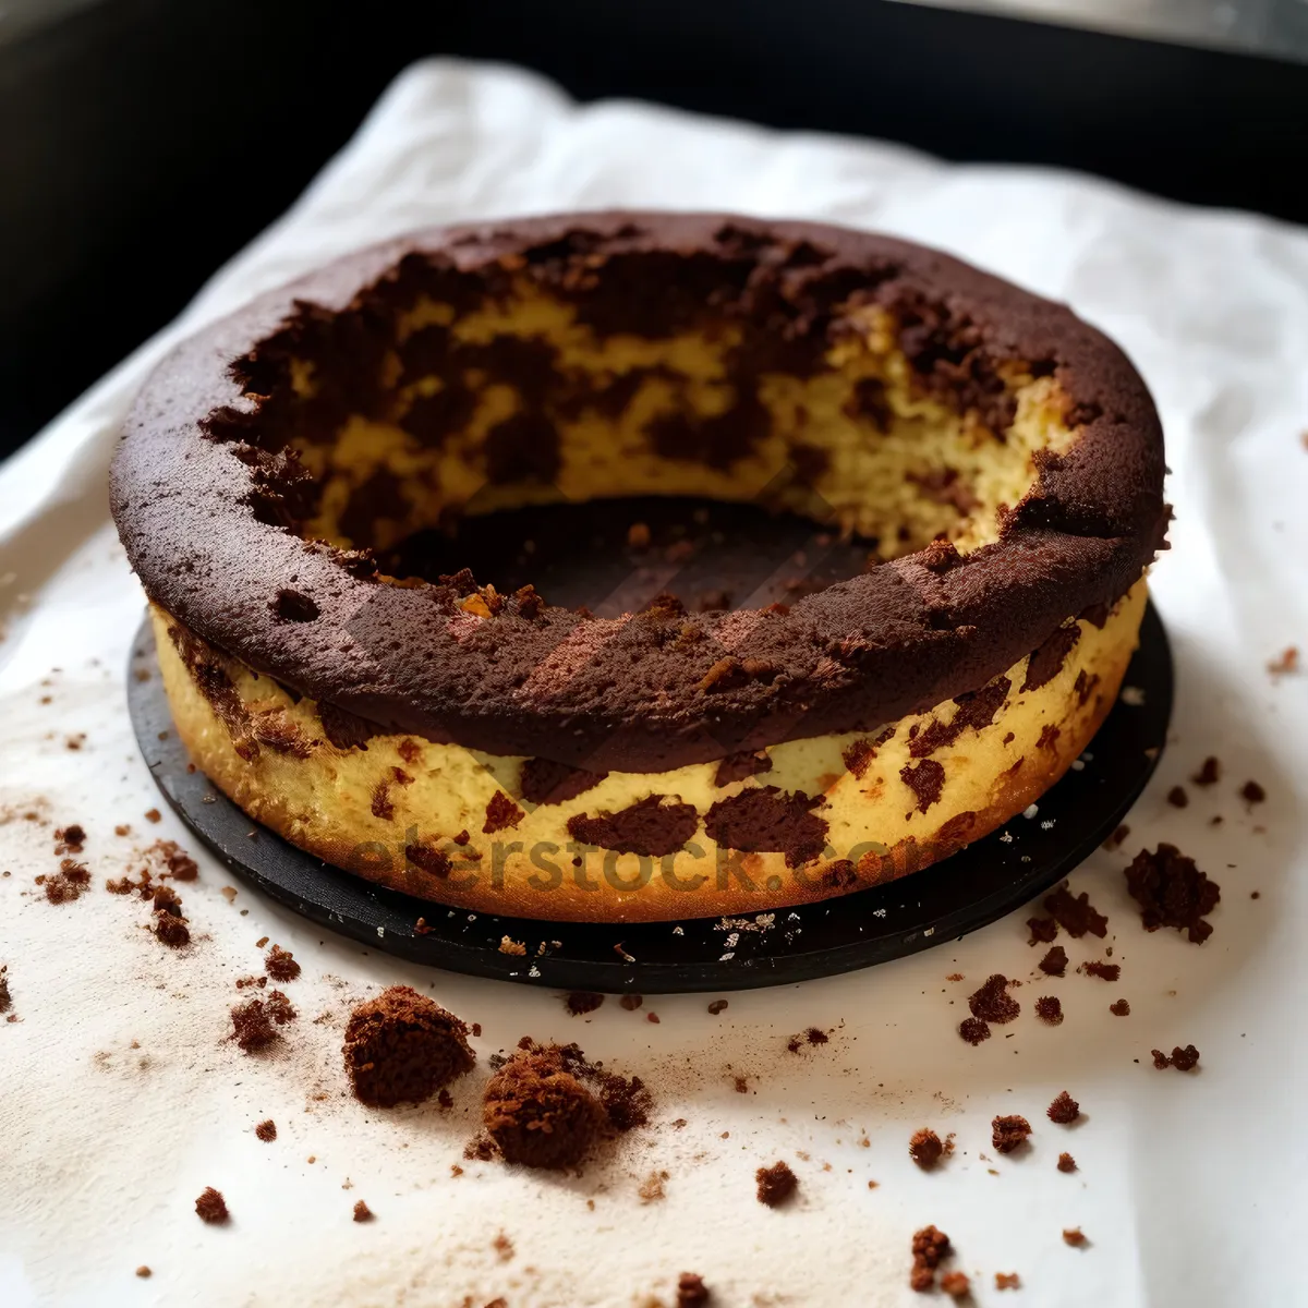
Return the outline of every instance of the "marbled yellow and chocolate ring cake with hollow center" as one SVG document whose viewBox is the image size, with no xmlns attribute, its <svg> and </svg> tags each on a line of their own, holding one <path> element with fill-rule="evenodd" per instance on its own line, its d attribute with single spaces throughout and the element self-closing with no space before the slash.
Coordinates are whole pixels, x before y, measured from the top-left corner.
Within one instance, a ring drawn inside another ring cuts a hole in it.
<svg viewBox="0 0 1308 1308">
<path fill-rule="evenodd" d="M 111 472 L 177 730 L 251 818 L 471 910 L 759 912 L 921 870 L 1080 755 L 1164 548 L 1107 337 L 947 255 L 721 215 L 443 228 L 178 347 Z M 476 560 L 523 506 L 697 496 L 866 569 L 595 615 Z"/>
</svg>

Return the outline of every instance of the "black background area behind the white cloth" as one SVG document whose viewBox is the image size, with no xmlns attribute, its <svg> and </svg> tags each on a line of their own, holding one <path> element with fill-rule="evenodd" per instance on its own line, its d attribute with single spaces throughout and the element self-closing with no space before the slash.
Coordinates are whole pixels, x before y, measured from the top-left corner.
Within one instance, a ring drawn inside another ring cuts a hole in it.
<svg viewBox="0 0 1308 1308">
<path fill-rule="evenodd" d="M 0 42 L 0 453 L 428 54 L 1308 222 L 1308 67 L 889 0 L 98 0 Z"/>
</svg>

